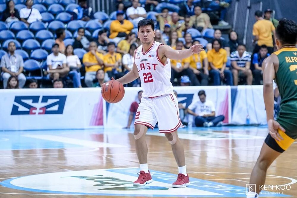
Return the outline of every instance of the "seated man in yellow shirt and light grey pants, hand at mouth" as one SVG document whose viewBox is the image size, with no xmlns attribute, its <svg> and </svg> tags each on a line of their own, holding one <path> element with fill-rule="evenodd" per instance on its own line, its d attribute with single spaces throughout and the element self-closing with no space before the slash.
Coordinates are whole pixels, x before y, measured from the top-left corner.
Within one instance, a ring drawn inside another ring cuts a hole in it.
<svg viewBox="0 0 297 198">
<path fill-rule="evenodd" d="M 83 55 L 83 64 L 86 69 L 85 83 L 88 87 L 93 87 L 93 80 L 96 79 L 98 69 L 103 69 L 103 54 L 97 52 L 97 43 L 90 42 L 89 52 Z"/>
</svg>

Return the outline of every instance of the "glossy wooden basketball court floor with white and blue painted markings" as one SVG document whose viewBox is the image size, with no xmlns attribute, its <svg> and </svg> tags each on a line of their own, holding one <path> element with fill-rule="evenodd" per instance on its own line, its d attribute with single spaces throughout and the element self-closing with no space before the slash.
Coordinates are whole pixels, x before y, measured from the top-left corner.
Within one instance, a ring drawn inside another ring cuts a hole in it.
<svg viewBox="0 0 297 198">
<path fill-rule="evenodd" d="M 191 181 L 183 189 L 171 188 L 177 165 L 170 144 L 157 129 L 147 134 L 154 181 L 132 187 L 139 166 L 132 133 L 132 129 L 0 132 L 0 197 L 246 197 L 245 186 L 267 129 L 180 129 Z M 287 188 L 267 187 L 260 197 L 297 197 L 295 143 L 267 172 L 267 185 Z"/>
</svg>

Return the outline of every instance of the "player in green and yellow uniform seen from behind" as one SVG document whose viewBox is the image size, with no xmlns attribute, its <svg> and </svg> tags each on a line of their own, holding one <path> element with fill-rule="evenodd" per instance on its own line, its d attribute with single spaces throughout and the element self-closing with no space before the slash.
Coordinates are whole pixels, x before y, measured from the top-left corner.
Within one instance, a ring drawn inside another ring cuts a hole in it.
<svg viewBox="0 0 297 198">
<path fill-rule="evenodd" d="M 282 19 L 276 29 L 278 51 L 263 61 L 264 102 L 269 134 L 263 143 L 260 156 L 252 171 L 247 198 L 257 198 L 260 185 L 264 185 L 270 164 L 297 138 L 297 25 L 293 20 Z M 274 121 L 275 78 L 282 98 L 280 113 Z M 256 189 L 254 189 L 256 188 Z"/>
</svg>

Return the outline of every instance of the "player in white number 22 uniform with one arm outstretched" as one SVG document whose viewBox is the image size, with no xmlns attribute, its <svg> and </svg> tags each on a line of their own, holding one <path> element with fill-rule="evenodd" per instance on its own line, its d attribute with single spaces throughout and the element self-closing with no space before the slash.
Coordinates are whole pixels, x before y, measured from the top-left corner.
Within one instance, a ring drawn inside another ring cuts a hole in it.
<svg viewBox="0 0 297 198">
<path fill-rule="evenodd" d="M 168 45 L 154 41 L 156 32 L 151 19 L 143 19 L 138 23 L 138 38 L 142 45 L 134 51 L 132 70 L 118 79 L 127 84 L 140 77 L 143 89 L 142 99 L 135 116 L 135 145 L 140 163 L 140 173 L 133 186 L 144 186 L 153 180 L 148 169 L 145 135 L 148 128 L 154 129 L 158 122 L 159 131 L 165 134 L 171 144 L 173 155 L 178 165 L 178 177 L 173 187 L 183 188 L 190 184 L 186 172 L 184 147 L 177 135 L 182 126 L 179 119 L 178 101 L 170 83 L 170 59 L 183 59 L 199 53 L 202 45 L 197 44 L 187 50 L 173 50 Z"/>
</svg>

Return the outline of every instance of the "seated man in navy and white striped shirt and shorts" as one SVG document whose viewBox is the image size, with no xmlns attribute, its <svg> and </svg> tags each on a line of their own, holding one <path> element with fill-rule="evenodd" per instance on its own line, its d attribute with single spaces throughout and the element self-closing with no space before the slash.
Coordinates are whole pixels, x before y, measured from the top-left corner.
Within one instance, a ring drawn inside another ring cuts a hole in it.
<svg viewBox="0 0 297 198">
<path fill-rule="evenodd" d="M 234 85 L 238 85 L 238 76 L 247 79 L 247 85 L 252 85 L 253 74 L 251 67 L 251 55 L 246 51 L 244 44 L 239 44 L 237 50 L 232 52 L 231 65 Z"/>
</svg>

